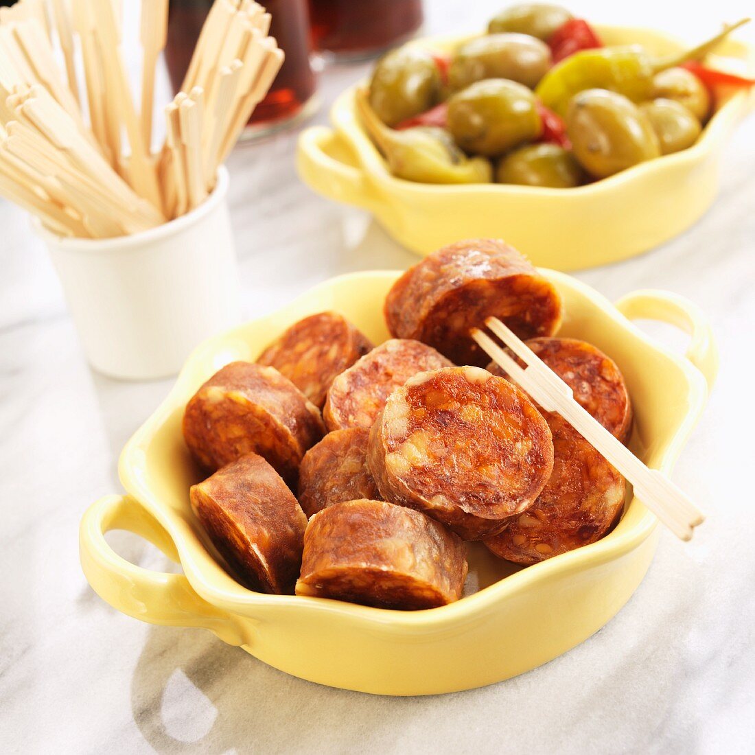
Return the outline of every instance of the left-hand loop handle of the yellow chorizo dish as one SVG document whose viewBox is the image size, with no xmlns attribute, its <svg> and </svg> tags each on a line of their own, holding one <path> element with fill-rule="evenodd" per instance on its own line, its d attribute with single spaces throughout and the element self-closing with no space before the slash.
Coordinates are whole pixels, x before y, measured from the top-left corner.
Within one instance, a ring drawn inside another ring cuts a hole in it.
<svg viewBox="0 0 755 755">
<path fill-rule="evenodd" d="M 182 574 L 142 569 L 118 555 L 104 534 L 125 529 L 180 562 L 171 535 L 138 501 L 107 495 L 88 508 L 79 526 L 79 556 L 91 587 L 122 613 L 171 627 L 202 627 L 230 645 L 251 643 L 248 627 L 207 602 Z"/>
</svg>

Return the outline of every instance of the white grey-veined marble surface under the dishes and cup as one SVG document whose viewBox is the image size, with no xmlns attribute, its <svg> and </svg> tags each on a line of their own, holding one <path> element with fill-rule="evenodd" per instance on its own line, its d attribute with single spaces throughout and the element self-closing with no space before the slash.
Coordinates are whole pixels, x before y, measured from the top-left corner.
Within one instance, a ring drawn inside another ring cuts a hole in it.
<svg viewBox="0 0 755 755">
<path fill-rule="evenodd" d="M 498 2 L 428 5 L 428 31 L 443 32 L 482 26 Z M 588 17 L 693 39 L 752 11 L 735 0 L 694 17 L 679 4 L 629 5 L 572 3 Z M 325 103 L 361 72 L 328 70 Z M 328 276 L 414 261 L 365 214 L 297 183 L 294 140 L 243 147 L 230 162 L 249 316 Z M 692 544 L 662 535 L 627 606 L 562 658 L 486 689 L 412 699 L 294 679 L 205 631 L 119 615 L 92 592 L 79 518 L 119 489 L 120 448 L 170 381 L 126 384 L 89 370 L 45 250 L 23 214 L 0 204 L 0 751 L 753 751 L 753 173 L 750 119 L 726 149 L 720 197 L 704 219 L 652 254 L 579 276 L 610 298 L 667 288 L 709 313 L 720 378 L 675 473 L 710 513 L 706 525 Z M 165 568 L 162 555 L 119 535 L 110 541 L 124 556 Z"/>
</svg>

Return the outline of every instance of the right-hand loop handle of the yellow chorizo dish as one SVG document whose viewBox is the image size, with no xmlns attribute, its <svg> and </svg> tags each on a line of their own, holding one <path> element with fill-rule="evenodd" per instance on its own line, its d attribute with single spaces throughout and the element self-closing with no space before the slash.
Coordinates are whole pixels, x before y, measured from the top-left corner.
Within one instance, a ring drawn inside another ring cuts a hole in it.
<svg viewBox="0 0 755 755">
<path fill-rule="evenodd" d="M 644 288 L 621 297 L 616 309 L 627 319 L 660 320 L 689 333 L 686 357 L 705 377 L 708 390 L 718 374 L 718 349 L 713 329 L 697 304 L 670 291 Z"/>
</svg>

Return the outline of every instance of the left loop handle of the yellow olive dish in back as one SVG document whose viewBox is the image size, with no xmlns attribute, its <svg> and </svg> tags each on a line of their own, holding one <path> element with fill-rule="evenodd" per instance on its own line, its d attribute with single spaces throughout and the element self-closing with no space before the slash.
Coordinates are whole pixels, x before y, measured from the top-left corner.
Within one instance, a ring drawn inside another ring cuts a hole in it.
<svg viewBox="0 0 755 755">
<path fill-rule="evenodd" d="M 328 199 L 374 209 L 374 191 L 364 171 L 344 162 L 348 154 L 347 145 L 335 131 L 311 126 L 302 131 L 297 143 L 297 171 L 304 183 Z"/>
</svg>

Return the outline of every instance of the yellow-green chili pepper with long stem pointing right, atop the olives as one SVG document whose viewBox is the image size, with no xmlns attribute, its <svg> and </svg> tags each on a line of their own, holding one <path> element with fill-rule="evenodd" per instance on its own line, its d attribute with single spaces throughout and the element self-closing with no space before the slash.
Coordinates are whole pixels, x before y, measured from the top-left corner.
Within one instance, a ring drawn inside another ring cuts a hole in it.
<svg viewBox="0 0 755 755">
<path fill-rule="evenodd" d="M 653 57 L 637 45 L 583 50 L 553 66 L 541 79 L 535 93 L 546 107 L 562 117 L 569 100 L 584 89 L 609 89 L 624 94 L 633 102 L 642 102 L 652 95 L 652 79 L 656 73 L 686 60 L 705 57 L 734 29 L 749 20 L 745 18 L 724 26 L 713 39 L 673 57 Z"/>
</svg>

